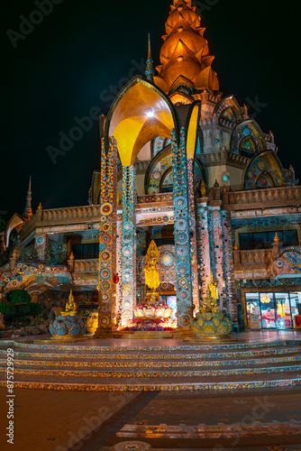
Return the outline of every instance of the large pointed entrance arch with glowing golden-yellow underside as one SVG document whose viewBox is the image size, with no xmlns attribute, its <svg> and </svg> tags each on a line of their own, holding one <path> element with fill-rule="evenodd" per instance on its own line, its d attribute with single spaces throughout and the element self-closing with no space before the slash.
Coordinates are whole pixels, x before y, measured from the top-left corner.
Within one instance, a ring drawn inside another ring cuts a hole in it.
<svg viewBox="0 0 301 451">
<path fill-rule="evenodd" d="M 123 166 L 133 164 L 141 148 L 156 138 L 170 138 L 178 115 L 169 97 L 159 87 L 140 76 L 132 78 L 114 100 L 105 121 L 105 147 L 109 137 L 117 141 Z"/>
</svg>

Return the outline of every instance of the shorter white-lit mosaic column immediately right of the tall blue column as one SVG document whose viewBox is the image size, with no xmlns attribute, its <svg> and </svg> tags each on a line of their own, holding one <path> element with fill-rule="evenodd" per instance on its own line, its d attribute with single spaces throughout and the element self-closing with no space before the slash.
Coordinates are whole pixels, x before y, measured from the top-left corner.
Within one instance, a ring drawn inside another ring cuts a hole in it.
<svg viewBox="0 0 301 451">
<path fill-rule="evenodd" d="M 203 198 L 196 207 L 196 228 L 197 228 L 197 260 L 199 264 L 199 281 L 201 284 L 202 298 L 206 296 L 207 283 L 210 279 L 211 259 L 210 241 L 208 228 L 208 207 L 207 198 Z"/>
</svg>

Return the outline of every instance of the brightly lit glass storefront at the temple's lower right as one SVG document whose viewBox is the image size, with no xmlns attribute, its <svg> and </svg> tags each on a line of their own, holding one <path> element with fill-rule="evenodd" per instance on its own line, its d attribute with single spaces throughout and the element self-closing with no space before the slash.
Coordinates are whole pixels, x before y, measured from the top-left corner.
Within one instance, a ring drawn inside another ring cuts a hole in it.
<svg viewBox="0 0 301 451">
<path fill-rule="evenodd" d="M 301 314 L 301 291 L 246 293 L 249 328 L 289 329 Z"/>
</svg>

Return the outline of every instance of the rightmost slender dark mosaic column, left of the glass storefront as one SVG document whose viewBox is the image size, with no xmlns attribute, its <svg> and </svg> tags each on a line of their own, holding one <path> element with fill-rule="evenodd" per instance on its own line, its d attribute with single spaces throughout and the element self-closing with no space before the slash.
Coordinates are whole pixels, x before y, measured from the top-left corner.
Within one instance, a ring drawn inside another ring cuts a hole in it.
<svg viewBox="0 0 301 451">
<path fill-rule="evenodd" d="M 234 279 L 233 234 L 229 211 L 222 212 L 223 220 L 223 263 L 226 289 L 226 309 L 233 325 L 238 328 L 236 284 Z"/>
</svg>

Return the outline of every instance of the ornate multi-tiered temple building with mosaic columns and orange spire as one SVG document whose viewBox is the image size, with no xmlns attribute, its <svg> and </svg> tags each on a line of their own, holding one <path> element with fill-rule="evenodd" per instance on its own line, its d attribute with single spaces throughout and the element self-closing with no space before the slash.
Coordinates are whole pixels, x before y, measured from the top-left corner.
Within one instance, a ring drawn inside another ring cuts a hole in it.
<svg viewBox="0 0 301 451">
<path fill-rule="evenodd" d="M 98 309 L 96 334 L 129 324 L 145 296 L 150 242 L 158 292 L 179 329 L 202 305 L 211 272 L 233 331 L 291 328 L 301 314 L 301 186 L 271 132 L 219 90 L 214 56 L 190 0 L 174 0 L 153 67 L 100 118 L 101 168 L 88 205 L 23 215 L 3 238 L 0 293 L 28 290 L 46 306 Z M 235 86 L 233 86 L 235 89 Z"/>
</svg>

